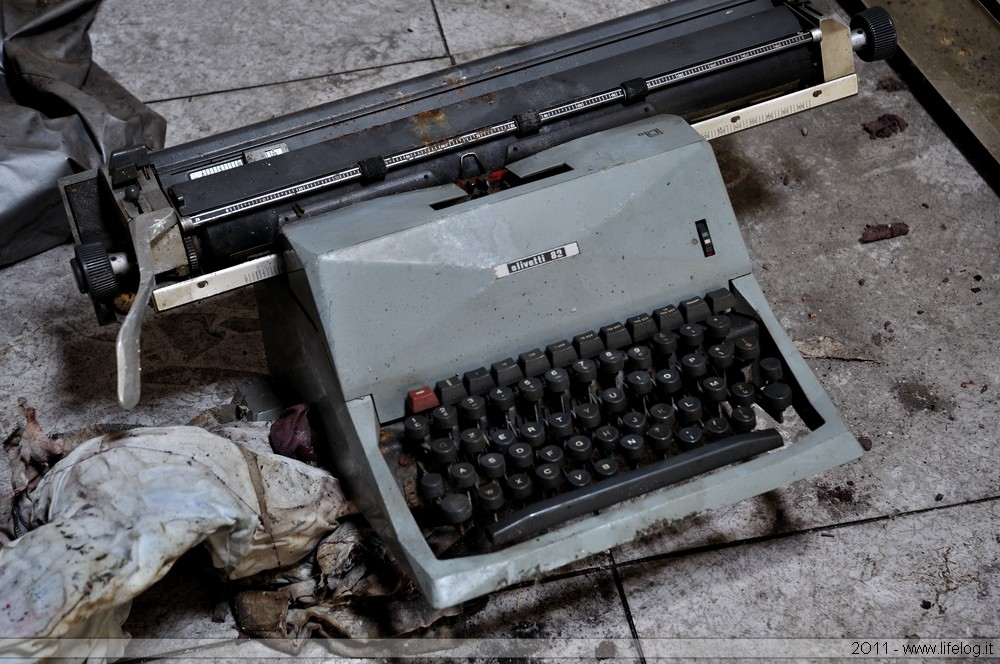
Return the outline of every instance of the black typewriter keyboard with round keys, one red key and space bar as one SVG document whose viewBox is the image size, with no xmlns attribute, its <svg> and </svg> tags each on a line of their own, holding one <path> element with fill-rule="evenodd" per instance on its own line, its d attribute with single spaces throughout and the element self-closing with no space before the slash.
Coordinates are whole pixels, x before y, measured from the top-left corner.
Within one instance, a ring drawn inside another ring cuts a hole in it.
<svg viewBox="0 0 1000 664">
<path fill-rule="evenodd" d="M 411 390 L 418 523 L 499 548 L 781 447 L 757 418 L 794 382 L 735 306 L 716 290 Z"/>
</svg>

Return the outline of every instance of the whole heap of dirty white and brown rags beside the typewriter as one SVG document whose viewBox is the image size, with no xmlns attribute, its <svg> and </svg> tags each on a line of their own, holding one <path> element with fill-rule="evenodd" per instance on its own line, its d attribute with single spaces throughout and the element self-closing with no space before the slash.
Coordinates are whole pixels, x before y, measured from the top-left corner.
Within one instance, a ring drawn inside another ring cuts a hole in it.
<svg viewBox="0 0 1000 664">
<path fill-rule="evenodd" d="M 431 608 L 353 520 L 337 479 L 272 452 L 264 423 L 220 407 L 195 420 L 212 431 L 83 441 L 47 436 L 34 410 L 21 410 L 25 426 L 5 441 L 13 490 L 0 509 L 0 634 L 19 656 L 123 656 L 131 600 L 199 545 L 232 584 L 241 633 L 288 652 L 309 637 L 396 636 L 460 611 Z M 290 414 L 292 437 L 304 417 Z M 93 645 L 67 651 L 65 639 Z"/>
</svg>

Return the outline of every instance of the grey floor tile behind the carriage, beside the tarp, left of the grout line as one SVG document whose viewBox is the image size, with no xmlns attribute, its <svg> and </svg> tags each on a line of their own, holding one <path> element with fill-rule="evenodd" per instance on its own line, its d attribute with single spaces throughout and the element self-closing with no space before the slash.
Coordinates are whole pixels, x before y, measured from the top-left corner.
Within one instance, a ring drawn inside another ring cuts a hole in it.
<svg viewBox="0 0 1000 664">
<path fill-rule="evenodd" d="M 95 61 L 143 101 L 445 55 L 430 2 L 406 0 L 105 0 L 90 35 Z"/>
</svg>

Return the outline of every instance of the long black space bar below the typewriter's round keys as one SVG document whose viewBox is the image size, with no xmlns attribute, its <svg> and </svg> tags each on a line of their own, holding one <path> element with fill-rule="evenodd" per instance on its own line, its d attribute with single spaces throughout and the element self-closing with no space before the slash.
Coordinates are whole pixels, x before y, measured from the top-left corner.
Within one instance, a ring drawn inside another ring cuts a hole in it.
<svg viewBox="0 0 1000 664">
<path fill-rule="evenodd" d="M 509 544 L 588 512 L 748 459 L 781 445 L 781 434 L 775 429 L 730 436 L 533 503 L 486 526 L 486 535 L 495 546 Z"/>
</svg>

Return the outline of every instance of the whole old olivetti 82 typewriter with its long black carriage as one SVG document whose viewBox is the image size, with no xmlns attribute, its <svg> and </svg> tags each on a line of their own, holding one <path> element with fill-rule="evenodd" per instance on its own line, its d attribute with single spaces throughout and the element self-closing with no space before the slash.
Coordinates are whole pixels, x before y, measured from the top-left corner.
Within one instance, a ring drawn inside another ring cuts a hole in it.
<svg viewBox="0 0 1000 664">
<path fill-rule="evenodd" d="M 857 92 L 881 9 L 675 0 L 60 183 L 121 320 L 253 284 L 271 373 L 429 602 L 860 455 L 751 274 L 707 139 Z"/>
</svg>

